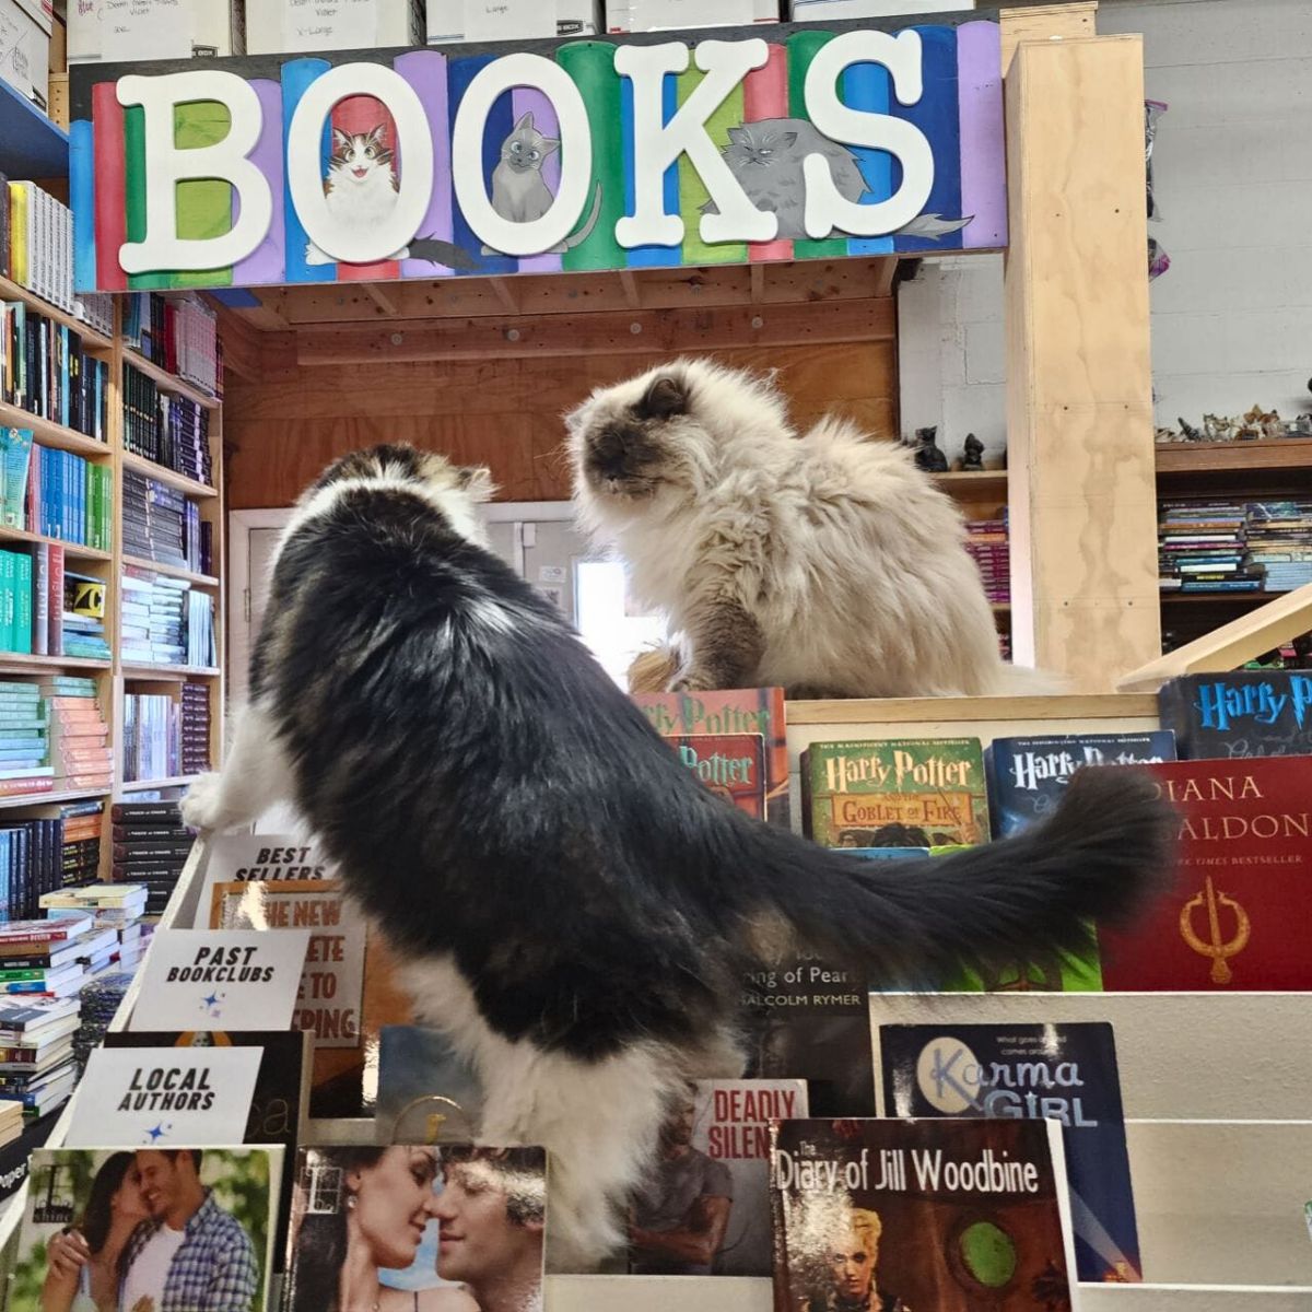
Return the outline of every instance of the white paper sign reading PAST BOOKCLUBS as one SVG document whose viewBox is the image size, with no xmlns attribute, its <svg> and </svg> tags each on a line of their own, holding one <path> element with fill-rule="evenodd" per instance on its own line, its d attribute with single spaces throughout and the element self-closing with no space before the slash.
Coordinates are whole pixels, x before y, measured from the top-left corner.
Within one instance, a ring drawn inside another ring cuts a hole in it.
<svg viewBox="0 0 1312 1312">
<path fill-rule="evenodd" d="M 310 930 L 164 929 L 130 1030 L 290 1030 Z"/>
</svg>

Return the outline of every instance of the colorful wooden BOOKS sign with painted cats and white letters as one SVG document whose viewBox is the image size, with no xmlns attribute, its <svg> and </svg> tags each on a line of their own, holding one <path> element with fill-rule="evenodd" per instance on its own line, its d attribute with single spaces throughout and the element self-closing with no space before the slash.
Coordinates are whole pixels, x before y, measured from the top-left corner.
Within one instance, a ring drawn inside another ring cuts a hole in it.
<svg viewBox="0 0 1312 1312">
<path fill-rule="evenodd" d="M 77 287 L 997 249 L 1000 67 L 975 18 L 76 66 Z"/>
</svg>

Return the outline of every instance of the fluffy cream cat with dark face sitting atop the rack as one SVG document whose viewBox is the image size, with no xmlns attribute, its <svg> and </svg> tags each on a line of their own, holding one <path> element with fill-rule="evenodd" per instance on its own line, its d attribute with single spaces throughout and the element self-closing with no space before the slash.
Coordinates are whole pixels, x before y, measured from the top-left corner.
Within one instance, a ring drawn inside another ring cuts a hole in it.
<svg viewBox="0 0 1312 1312">
<path fill-rule="evenodd" d="M 668 617 L 670 687 L 1044 690 L 1000 657 L 960 513 L 905 449 L 837 419 L 799 434 L 768 379 L 702 359 L 601 388 L 567 425 L 583 525 Z"/>
</svg>

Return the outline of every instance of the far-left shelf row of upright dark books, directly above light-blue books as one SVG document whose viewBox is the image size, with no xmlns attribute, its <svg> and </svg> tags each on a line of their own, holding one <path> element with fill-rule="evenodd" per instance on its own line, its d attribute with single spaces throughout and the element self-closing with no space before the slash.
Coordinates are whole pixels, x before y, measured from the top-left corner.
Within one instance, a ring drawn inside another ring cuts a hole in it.
<svg viewBox="0 0 1312 1312">
<path fill-rule="evenodd" d="M 0 400 L 97 442 L 109 440 L 109 362 L 67 324 L 0 302 Z"/>
</svg>

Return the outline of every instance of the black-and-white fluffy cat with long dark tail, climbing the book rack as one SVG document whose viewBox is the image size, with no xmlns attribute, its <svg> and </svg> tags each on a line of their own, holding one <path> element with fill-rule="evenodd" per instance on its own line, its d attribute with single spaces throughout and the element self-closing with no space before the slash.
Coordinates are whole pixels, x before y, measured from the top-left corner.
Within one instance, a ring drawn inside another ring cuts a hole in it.
<svg viewBox="0 0 1312 1312">
<path fill-rule="evenodd" d="M 290 799 L 471 1059 L 482 1136 L 544 1144 L 552 1260 L 594 1263 L 689 1077 L 741 1068 L 741 972 L 815 947 L 880 980 L 1120 920 L 1168 857 L 1140 778 L 1086 771 L 1042 828 L 863 862 L 703 789 L 550 601 L 482 542 L 487 472 L 333 464 L 279 546 L 222 774 L 189 824 Z"/>
</svg>

